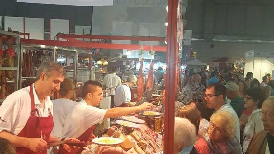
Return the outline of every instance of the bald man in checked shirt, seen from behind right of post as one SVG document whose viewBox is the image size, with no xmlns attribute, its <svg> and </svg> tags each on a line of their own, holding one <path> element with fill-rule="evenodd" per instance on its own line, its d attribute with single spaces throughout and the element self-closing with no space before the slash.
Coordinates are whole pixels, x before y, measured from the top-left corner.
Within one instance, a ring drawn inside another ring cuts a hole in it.
<svg viewBox="0 0 274 154">
<path fill-rule="evenodd" d="M 191 83 L 184 86 L 182 91 L 182 96 L 180 100 L 184 104 L 188 104 L 192 99 L 199 98 L 202 99 L 202 87 L 199 85 L 201 82 L 201 76 L 199 74 L 193 74 L 191 77 Z"/>
</svg>

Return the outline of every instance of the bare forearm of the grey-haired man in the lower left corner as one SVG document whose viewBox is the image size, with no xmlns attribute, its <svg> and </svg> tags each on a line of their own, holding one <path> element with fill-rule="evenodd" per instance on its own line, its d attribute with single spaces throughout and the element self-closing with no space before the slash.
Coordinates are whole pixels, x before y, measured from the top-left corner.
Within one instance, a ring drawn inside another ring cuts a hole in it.
<svg viewBox="0 0 274 154">
<path fill-rule="evenodd" d="M 11 133 L 8 133 L 7 131 L 0 132 L 0 138 L 5 138 L 9 140 L 15 147 L 28 147 L 28 143 L 30 139 L 30 138 L 24 138 L 24 137 L 12 135 Z"/>
</svg>

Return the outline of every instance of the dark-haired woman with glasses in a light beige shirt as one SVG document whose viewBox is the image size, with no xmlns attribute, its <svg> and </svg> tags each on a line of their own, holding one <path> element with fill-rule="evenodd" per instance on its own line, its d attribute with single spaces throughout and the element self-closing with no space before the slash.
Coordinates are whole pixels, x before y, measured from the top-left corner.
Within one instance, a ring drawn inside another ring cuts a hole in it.
<svg viewBox="0 0 274 154">
<path fill-rule="evenodd" d="M 263 130 L 263 123 L 261 120 L 261 108 L 262 103 L 266 99 L 266 93 L 261 88 L 249 88 L 245 91 L 244 96 L 244 107 L 246 110 L 249 110 L 251 115 L 248 117 L 247 124 L 244 124 L 240 121 L 240 126 L 245 125 L 243 131 L 243 152 L 246 152 L 246 149 L 252 139 L 253 135 L 257 132 Z"/>
</svg>

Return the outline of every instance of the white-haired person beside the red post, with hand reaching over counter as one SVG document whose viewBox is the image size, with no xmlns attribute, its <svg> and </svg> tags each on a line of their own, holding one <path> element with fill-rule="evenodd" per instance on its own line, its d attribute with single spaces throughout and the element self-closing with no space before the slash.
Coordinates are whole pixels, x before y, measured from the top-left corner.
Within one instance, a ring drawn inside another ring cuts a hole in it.
<svg viewBox="0 0 274 154">
<path fill-rule="evenodd" d="M 199 154 L 193 146 L 196 141 L 195 126 L 188 119 L 180 117 L 175 117 L 174 123 L 174 154 Z M 102 146 L 100 150 L 102 154 L 132 154 L 109 146 Z"/>
</svg>

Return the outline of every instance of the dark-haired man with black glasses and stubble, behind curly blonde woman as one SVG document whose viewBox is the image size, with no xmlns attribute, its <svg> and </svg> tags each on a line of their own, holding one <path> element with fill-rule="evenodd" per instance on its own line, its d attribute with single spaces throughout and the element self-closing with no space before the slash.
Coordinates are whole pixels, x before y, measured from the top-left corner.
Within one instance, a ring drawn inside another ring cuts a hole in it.
<svg viewBox="0 0 274 154">
<path fill-rule="evenodd" d="M 216 112 L 228 111 L 236 119 L 236 137 L 240 142 L 240 123 L 235 110 L 230 104 L 225 103 L 226 88 L 220 83 L 212 83 L 206 88 L 205 101 L 208 108 L 215 109 Z"/>
</svg>

